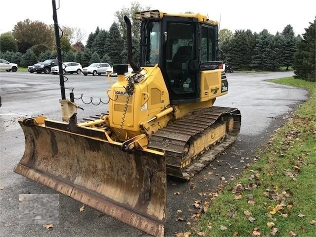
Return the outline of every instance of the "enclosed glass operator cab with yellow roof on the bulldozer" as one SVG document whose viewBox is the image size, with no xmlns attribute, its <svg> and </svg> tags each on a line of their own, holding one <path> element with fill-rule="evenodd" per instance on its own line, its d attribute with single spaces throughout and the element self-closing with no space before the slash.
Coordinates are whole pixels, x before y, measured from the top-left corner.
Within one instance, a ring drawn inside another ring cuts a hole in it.
<svg viewBox="0 0 316 237">
<path fill-rule="evenodd" d="M 217 22 L 210 24 L 206 17 L 200 22 L 196 16 L 201 15 L 168 15 L 158 10 L 135 14 L 142 21 L 141 66 L 158 63 L 173 104 L 197 101 L 200 71 L 219 64 Z"/>
</svg>

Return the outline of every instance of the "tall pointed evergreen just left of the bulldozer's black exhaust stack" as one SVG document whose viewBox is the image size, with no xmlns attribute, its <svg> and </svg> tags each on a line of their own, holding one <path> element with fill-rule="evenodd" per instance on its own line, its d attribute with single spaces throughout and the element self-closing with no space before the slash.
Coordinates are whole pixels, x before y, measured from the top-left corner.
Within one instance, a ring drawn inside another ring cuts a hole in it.
<svg viewBox="0 0 316 237">
<path fill-rule="evenodd" d="M 112 64 L 122 63 L 121 52 L 123 50 L 123 40 L 118 25 L 114 22 L 110 27 L 106 38 L 106 53 L 111 58 Z"/>
</svg>

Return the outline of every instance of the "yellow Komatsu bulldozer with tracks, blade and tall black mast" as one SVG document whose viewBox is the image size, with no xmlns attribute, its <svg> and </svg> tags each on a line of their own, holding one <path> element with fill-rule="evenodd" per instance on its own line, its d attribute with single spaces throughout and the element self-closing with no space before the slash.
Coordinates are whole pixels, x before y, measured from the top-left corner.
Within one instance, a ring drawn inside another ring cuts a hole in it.
<svg viewBox="0 0 316 237">
<path fill-rule="evenodd" d="M 54 8 L 56 44 L 59 42 Z M 164 236 L 167 175 L 190 180 L 232 144 L 240 111 L 213 106 L 226 95 L 218 22 L 200 13 L 137 12 L 140 62 L 113 66 L 108 112 L 77 122 L 74 95 L 62 121 L 38 116 L 18 122 L 25 153 L 14 172 L 68 195 L 153 236 Z M 58 49 L 58 47 L 57 47 Z M 58 51 L 59 72 L 61 55 Z"/>
</svg>

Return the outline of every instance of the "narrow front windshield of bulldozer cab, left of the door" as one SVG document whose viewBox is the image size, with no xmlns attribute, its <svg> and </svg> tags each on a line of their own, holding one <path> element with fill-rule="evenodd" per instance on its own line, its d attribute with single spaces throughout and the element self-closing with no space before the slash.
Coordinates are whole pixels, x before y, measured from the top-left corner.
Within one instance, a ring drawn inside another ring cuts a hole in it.
<svg viewBox="0 0 316 237">
<path fill-rule="evenodd" d="M 146 66 L 154 66 L 159 62 L 160 46 L 160 22 L 144 23 L 142 39 L 142 53 Z"/>
</svg>

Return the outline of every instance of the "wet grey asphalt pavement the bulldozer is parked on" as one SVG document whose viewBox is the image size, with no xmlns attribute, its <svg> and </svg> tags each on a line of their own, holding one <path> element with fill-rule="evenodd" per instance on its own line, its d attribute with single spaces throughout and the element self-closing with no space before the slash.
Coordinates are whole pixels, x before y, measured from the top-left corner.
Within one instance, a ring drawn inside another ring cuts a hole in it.
<svg viewBox="0 0 316 237">
<path fill-rule="evenodd" d="M 216 192 L 218 185 L 225 185 L 240 174 L 248 163 L 256 159 L 255 149 L 265 144 L 273 131 L 307 99 L 306 90 L 265 81 L 292 75 L 291 71 L 227 73 L 228 95 L 219 97 L 215 105 L 240 109 L 240 135 L 230 148 L 191 182 L 168 179 L 166 236 L 188 230 L 190 226 L 187 222 L 192 222 L 191 217 L 196 213 L 193 203 L 196 200 L 209 201 L 207 193 Z M 106 91 L 111 84 L 106 76 L 74 74 L 67 77 L 65 86 L 69 90 L 66 90 L 66 95 L 73 91 L 78 98 L 76 102 L 84 109 L 79 110 L 79 120 L 107 111 Z M 0 96 L 0 236 L 148 236 L 93 208 L 86 206 L 85 211 L 80 212 L 82 203 L 63 194 L 59 194 L 59 224 L 54 224 L 53 228 L 45 229 L 42 224 L 19 223 L 19 194 L 58 193 L 13 173 L 13 168 L 21 159 L 25 146 L 17 119 L 45 115 L 49 119 L 61 120 L 59 77 L 27 72 L 0 72 Z M 101 102 L 94 106 L 90 101 L 94 104 Z M 221 177 L 225 177 L 225 180 Z M 179 195 L 174 194 L 178 192 Z M 183 221 L 176 221 L 179 217 Z"/>
</svg>

